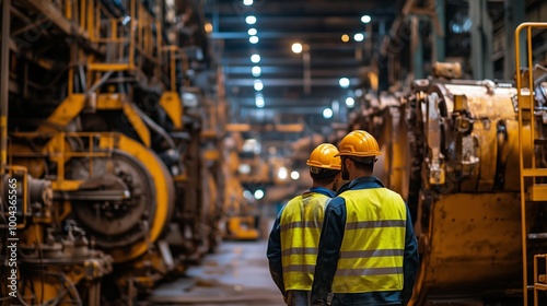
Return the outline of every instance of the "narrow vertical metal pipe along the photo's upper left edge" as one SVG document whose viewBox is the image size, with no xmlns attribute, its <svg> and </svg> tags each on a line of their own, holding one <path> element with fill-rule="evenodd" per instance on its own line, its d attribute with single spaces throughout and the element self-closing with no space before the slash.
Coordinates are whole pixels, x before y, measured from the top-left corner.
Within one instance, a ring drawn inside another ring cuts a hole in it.
<svg viewBox="0 0 547 306">
<path fill-rule="evenodd" d="M 8 164 L 8 111 L 9 111 L 9 82 L 10 82 L 10 7 L 11 0 L 2 0 L 2 44 L 0 46 L 0 148 L 1 167 L 0 173 L 4 173 Z"/>
</svg>

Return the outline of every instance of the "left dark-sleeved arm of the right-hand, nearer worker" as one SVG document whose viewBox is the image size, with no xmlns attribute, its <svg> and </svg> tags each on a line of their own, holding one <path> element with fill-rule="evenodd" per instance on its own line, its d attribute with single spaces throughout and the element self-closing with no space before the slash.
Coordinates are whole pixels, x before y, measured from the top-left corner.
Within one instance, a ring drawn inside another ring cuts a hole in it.
<svg viewBox="0 0 547 306">
<path fill-rule="evenodd" d="M 317 263 L 312 285 L 312 305 L 327 305 L 327 295 L 333 285 L 346 226 L 346 202 L 334 198 L 325 210 L 321 231 Z"/>
</svg>

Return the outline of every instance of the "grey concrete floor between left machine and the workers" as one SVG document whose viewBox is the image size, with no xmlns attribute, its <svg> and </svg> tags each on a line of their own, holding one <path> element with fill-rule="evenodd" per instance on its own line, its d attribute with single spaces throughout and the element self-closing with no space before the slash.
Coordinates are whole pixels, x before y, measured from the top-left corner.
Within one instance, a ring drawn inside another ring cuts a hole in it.
<svg viewBox="0 0 547 306">
<path fill-rule="evenodd" d="M 160 285 L 152 305 L 282 306 L 281 293 L 271 281 L 266 240 L 223 242 L 187 276 Z"/>
</svg>

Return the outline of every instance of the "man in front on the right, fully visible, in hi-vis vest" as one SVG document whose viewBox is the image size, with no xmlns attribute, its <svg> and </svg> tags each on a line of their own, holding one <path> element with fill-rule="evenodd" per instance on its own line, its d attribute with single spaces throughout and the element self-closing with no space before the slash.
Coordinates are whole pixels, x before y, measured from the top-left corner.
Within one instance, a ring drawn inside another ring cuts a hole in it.
<svg viewBox="0 0 547 306">
<path fill-rule="evenodd" d="M 341 177 L 349 180 L 325 210 L 311 304 L 407 305 L 418 247 L 403 198 L 372 176 L 381 155 L 363 130 L 341 141 Z"/>
</svg>

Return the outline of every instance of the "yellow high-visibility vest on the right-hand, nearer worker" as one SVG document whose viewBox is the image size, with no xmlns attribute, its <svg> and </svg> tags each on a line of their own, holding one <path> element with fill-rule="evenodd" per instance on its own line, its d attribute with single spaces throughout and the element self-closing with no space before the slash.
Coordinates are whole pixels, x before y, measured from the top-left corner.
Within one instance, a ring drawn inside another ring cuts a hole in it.
<svg viewBox="0 0 547 306">
<path fill-rule="evenodd" d="M 334 293 L 403 290 L 407 211 L 400 196 L 387 188 L 348 190 L 346 229 Z"/>
</svg>

